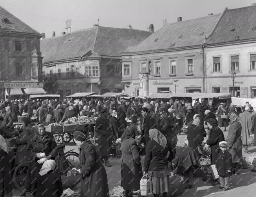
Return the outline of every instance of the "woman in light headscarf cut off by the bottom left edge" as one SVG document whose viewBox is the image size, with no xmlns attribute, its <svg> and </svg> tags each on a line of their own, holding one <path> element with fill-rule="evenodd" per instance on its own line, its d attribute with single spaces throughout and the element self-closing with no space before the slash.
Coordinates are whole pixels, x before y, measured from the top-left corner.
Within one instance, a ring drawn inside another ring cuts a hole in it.
<svg viewBox="0 0 256 197">
<path fill-rule="evenodd" d="M 7 147 L 5 139 L 0 135 L 0 197 L 11 197 L 12 195 L 12 179 L 10 171 L 15 167 L 14 152 Z"/>
</svg>

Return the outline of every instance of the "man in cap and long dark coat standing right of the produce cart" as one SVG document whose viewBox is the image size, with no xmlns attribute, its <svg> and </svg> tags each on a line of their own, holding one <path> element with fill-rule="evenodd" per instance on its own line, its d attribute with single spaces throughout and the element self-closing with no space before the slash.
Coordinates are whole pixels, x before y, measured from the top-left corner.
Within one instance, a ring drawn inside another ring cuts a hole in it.
<svg viewBox="0 0 256 197">
<path fill-rule="evenodd" d="M 110 113 L 107 108 L 101 109 L 101 115 L 96 119 L 95 132 L 99 138 L 99 155 L 102 158 L 102 162 L 105 162 L 105 166 L 112 167 L 108 161 L 111 144 L 110 136 L 112 135 L 108 120 L 109 115 Z"/>
</svg>

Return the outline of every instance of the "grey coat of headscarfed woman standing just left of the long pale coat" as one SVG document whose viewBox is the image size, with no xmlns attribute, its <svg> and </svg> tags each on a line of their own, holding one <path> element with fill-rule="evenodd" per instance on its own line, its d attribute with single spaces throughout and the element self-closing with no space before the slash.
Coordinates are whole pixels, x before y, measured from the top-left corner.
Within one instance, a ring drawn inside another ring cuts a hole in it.
<svg viewBox="0 0 256 197">
<path fill-rule="evenodd" d="M 241 140 L 241 124 L 237 121 L 230 122 L 228 147 L 230 148 L 230 154 L 232 155 L 233 163 L 240 163 L 243 161 L 242 153 L 242 140 Z"/>
</svg>

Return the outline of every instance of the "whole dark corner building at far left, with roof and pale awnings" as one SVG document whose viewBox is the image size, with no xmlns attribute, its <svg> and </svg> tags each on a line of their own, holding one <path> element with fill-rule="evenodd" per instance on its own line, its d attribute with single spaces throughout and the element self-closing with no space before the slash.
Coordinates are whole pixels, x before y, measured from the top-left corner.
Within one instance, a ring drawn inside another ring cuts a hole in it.
<svg viewBox="0 0 256 197">
<path fill-rule="evenodd" d="M 42 35 L 3 7 L 0 18 L 1 99 L 31 93 L 27 88 L 43 91 L 39 41 Z"/>
</svg>

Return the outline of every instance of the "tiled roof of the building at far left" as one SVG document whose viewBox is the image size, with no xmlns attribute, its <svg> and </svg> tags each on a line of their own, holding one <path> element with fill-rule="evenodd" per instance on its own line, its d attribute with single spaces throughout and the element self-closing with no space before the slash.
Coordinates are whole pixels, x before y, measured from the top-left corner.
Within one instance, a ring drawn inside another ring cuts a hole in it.
<svg viewBox="0 0 256 197">
<path fill-rule="evenodd" d="M 7 20 L 4 20 L 4 19 Z M 0 6 L 0 31 L 11 31 L 20 33 L 31 33 L 40 35 L 38 31 L 29 27 L 16 16 L 9 13 L 6 9 Z"/>
</svg>

